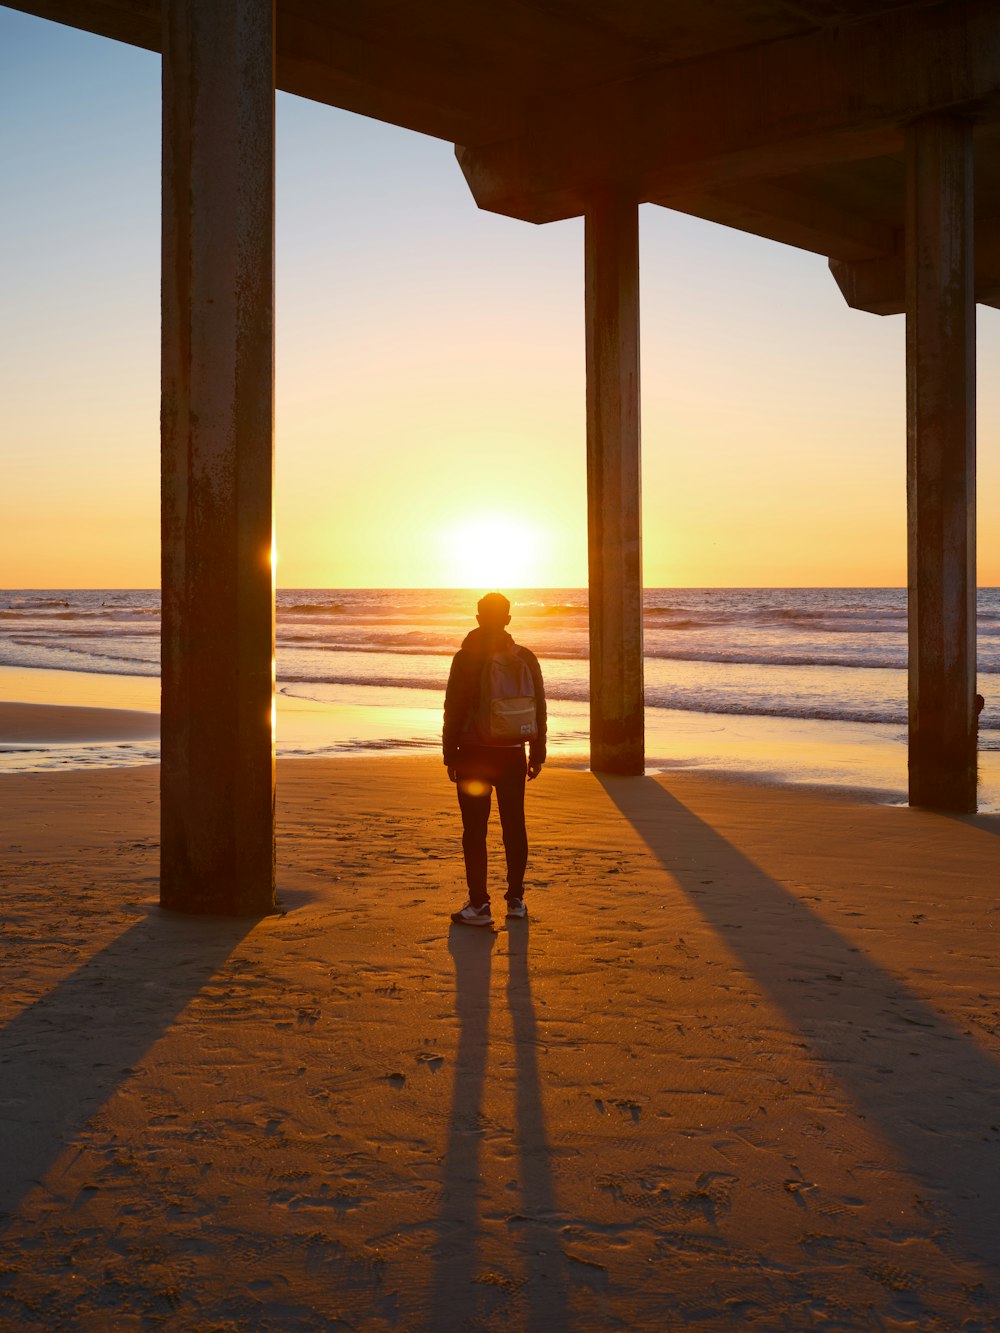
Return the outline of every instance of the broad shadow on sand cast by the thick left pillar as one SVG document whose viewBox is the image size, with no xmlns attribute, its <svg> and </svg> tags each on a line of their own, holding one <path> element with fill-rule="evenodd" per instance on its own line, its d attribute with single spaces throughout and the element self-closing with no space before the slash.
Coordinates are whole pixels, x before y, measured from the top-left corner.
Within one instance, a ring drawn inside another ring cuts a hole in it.
<svg viewBox="0 0 1000 1333">
<path fill-rule="evenodd" d="M 0 1228 L 253 925 L 153 909 L 0 1030 Z"/>
</svg>

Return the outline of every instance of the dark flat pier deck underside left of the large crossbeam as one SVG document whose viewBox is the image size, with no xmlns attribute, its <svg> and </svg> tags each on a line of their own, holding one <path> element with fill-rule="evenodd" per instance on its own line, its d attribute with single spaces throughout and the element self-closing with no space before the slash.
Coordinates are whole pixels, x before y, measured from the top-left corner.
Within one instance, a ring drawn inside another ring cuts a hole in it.
<svg viewBox="0 0 1000 1333">
<path fill-rule="evenodd" d="M 160 49 L 160 0 L 13 8 Z M 492 144 L 521 133 L 547 99 L 612 84 L 631 96 L 629 80 L 651 64 L 771 45 L 887 9 L 905 29 L 920 8 L 923 0 L 277 0 L 276 80 L 284 92 L 451 143 Z"/>
</svg>

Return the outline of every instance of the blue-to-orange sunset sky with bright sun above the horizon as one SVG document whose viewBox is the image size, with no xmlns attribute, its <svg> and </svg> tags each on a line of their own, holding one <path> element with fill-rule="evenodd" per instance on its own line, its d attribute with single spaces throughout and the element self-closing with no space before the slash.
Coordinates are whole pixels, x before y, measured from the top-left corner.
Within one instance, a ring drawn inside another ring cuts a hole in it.
<svg viewBox="0 0 1000 1333">
<path fill-rule="evenodd" d="M 7 9 L 0 53 L 0 583 L 151 587 L 159 60 Z M 279 583 L 584 584 L 581 223 L 480 213 L 449 145 L 283 95 L 277 211 Z M 641 272 L 645 583 L 904 583 L 903 320 L 652 207 Z M 980 309 L 983 584 L 999 352 Z"/>
</svg>

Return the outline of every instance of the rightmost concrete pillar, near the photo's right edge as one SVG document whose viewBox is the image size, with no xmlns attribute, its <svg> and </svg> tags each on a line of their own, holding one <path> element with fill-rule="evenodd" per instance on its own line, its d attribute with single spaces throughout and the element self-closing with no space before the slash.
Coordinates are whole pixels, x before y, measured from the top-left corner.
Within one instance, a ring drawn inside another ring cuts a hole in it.
<svg viewBox="0 0 1000 1333">
<path fill-rule="evenodd" d="M 972 127 L 907 131 L 909 804 L 976 808 Z"/>
</svg>

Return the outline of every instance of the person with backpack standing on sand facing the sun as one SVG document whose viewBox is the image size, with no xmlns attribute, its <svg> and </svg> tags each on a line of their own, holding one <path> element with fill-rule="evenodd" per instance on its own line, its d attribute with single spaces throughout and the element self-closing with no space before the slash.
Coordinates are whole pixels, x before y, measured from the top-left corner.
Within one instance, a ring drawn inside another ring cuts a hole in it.
<svg viewBox="0 0 1000 1333">
<path fill-rule="evenodd" d="M 487 889 L 487 825 L 493 789 L 507 854 L 507 916 L 525 917 L 524 784 L 545 762 L 545 689 L 533 653 L 507 632 L 511 603 L 491 592 L 476 608 L 479 629 L 452 660 L 441 736 L 448 777 L 457 785 L 468 902 L 452 912 L 459 925 L 493 924 Z M 524 746 L 528 745 L 525 760 Z"/>
</svg>

